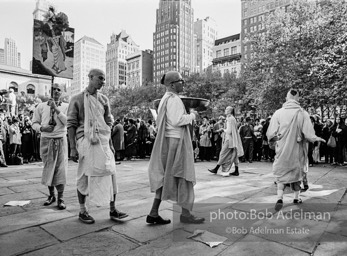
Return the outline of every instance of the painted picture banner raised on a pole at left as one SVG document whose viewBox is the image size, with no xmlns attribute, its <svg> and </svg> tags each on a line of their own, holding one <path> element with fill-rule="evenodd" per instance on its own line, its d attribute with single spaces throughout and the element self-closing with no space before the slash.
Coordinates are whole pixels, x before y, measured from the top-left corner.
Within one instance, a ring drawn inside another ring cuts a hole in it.
<svg viewBox="0 0 347 256">
<path fill-rule="evenodd" d="M 74 29 L 65 13 L 50 7 L 43 21 L 34 19 L 33 74 L 73 78 Z"/>
</svg>

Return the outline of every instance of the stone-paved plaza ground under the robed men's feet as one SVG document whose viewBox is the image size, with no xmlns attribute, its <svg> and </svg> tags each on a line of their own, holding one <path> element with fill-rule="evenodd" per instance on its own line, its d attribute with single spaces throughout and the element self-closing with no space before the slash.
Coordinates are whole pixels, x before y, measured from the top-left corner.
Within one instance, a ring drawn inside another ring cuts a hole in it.
<svg viewBox="0 0 347 256">
<path fill-rule="evenodd" d="M 160 215 L 173 220 L 165 226 L 145 222 L 153 200 L 149 191 L 148 160 L 117 165 L 117 208 L 127 212 L 129 218 L 115 222 L 109 219 L 108 206 L 90 206 L 89 212 L 96 220 L 92 225 L 78 220 L 76 163 L 69 162 L 64 196 L 67 209 L 63 211 L 56 208 L 56 203 L 42 206 L 48 193 L 40 184 L 42 163 L 1 168 L 1 205 L 14 200 L 31 202 L 23 207 L 0 208 L 0 255 L 347 255 L 346 167 L 319 164 L 310 168 L 310 190 L 302 193 L 301 205 L 292 203 L 292 192 L 286 189 L 283 211 L 324 210 L 331 218 L 302 220 L 297 226 L 307 228 L 309 234 L 295 233 L 283 238 L 250 232 L 229 236 L 230 232 L 226 233 L 225 229 L 228 222 L 221 222 L 222 228 L 213 229 L 209 219 L 211 211 L 238 209 L 247 212 L 253 207 L 264 209 L 266 203 L 273 208 L 276 202 L 271 163 L 241 163 L 238 177 L 209 173 L 207 169 L 215 164 L 215 161 L 195 164 L 194 213 L 206 216 L 207 225 L 179 223 L 176 207 L 163 202 Z M 315 209 L 307 209 L 310 206 Z M 286 224 L 295 225 L 295 221 L 289 219 Z M 276 225 L 271 219 L 259 220 L 257 224 Z M 212 233 L 228 239 L 210 248 L 187 238 L 196 229 L 214 230 Z"/>
</svg>

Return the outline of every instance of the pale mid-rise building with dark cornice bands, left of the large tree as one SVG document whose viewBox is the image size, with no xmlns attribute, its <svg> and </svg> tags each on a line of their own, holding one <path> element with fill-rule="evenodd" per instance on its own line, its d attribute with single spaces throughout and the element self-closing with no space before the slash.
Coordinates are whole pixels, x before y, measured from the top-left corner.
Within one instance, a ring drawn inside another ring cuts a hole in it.
<svg viewBox="0 0 347 256">
<path fill-rule="evenodd" d="M 217 39 L 213 47 L 214 72 L 221 74 L 234 73 L 236 76 L 241 72 L 241 40 L 240 34 Z"/>
</svg>

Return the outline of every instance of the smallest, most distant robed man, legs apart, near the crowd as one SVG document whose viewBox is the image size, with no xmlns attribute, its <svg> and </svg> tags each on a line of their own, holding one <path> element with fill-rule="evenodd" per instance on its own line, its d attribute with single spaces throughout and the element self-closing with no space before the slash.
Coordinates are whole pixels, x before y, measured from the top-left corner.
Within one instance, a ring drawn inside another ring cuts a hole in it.
<svg viewBox="0 0 347 256">
<path fill-rule="evenodd" d="M 227 128 L 224 129 L 224 139 L 222 150 L 219 154 L 219 160 L 216 167 L 210 172 L 217 174 L 218 169 L 222 166 L 222 176 L 239 176 L 239 157 L 243 156 L 242 141 L 237 131 L 237 122 L 234 115 L 234 109 L 230 106 L 226 107 L 225 114 Z M 232 165 L 235 164 L 235 171 L 230 173 Z"/>
</svg>

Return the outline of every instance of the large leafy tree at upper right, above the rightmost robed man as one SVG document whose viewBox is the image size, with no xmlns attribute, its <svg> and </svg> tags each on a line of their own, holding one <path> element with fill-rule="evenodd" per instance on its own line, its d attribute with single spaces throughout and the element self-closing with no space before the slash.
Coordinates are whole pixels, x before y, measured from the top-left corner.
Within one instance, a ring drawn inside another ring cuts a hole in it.
<svg viewBox="0 0 347 256">
<path fill-rule="evenodd" d="M 246 102 L 274 111 L 292 87 L 301 90 L 302 105 L 307 108 L 342 100 L 346 89 L 344 0 L 296 0 L 287 11 L 269 13 L 265 28 L 266 32 L 247 38 L 254 54 L 243 73 Z"/>
</svg>

